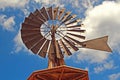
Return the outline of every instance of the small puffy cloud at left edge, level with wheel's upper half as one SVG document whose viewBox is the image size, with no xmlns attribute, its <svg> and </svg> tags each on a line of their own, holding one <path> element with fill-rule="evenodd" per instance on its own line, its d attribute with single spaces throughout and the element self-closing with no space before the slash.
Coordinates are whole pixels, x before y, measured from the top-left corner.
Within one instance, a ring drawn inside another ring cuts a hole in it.
<svg viewBox="0 0 120 80">
<path fill-rule="evenodd" d="M 14 19 L 15 19 L 14 16 L 7 18 L 6 15 L 0 15 L 0 25 L 5 30 L 14 31 L 14 25 L 15 25 Z"/>
</svg>

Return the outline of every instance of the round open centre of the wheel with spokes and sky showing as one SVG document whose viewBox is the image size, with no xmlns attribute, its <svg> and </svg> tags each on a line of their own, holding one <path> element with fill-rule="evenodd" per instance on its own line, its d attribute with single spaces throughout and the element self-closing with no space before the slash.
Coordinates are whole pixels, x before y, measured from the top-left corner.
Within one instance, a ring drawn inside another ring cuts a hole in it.
<svg viewBox="0 0 120 80">
<path fill-rule="evenodd" d="M 46 33 L 52 34 L 53 31 L 55 31 L 55 39 L 60 40 L 64 35 L 67 34 L 67 27 L 64 23 L 62 23 L 59 20 L 48 20 L 44 24 L 42 24 L 40 31 L 41 34 L 44 36 Z M 60 35 L 61 33 L 62 35 Z M 63 35 L 64 34 L 64 35 Z M 52 40 L 51 36 L 45 36 L 46 39 Z"/>
</svg>

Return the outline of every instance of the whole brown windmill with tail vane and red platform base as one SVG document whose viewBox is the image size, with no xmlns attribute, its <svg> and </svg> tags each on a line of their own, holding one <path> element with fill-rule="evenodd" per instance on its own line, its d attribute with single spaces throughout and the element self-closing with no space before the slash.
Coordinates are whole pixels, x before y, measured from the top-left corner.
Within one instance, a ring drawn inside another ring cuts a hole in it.
<svg viewBox="0 0 120 80">
<path fill-rule="evenodd" d="M 48 57 L 48 69 L 34 72 L 28 80 L 88 80 L 88 72 L 65 66 L 64 55 L 79 48 L 111 52 L 108 36 L 83 41 L 84 25 L 75 14 L 59 7 L 42 7 L 22 23 L 21 37 L 34 54 Z"/>
</svg>

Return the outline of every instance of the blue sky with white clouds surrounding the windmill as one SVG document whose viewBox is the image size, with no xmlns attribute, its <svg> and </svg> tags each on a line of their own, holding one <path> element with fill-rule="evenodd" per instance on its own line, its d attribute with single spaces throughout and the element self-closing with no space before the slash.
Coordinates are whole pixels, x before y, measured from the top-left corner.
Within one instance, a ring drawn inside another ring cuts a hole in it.
<svg viewBox="0 0 120 80">
<path fill-rule="evenodd" d="M 86 40 L 109 36 L 112 53 L 80 49 L 65 58 L 68 66 L 88 70 L 90 80 L 120 80 L 120 0 L 0 0 L 0 79 L 26 80 L 33 71 L 47 68 L 47 59 L 28 51 L 19 32 L 24 18 L 42 6 L 77 14 Z"/>
</svg>

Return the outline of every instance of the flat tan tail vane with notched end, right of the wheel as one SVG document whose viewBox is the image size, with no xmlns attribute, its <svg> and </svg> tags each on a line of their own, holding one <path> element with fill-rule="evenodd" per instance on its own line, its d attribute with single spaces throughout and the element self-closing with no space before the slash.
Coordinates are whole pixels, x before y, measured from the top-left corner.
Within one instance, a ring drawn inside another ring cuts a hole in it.
<svg viewBox="0 0 120 80">
<path fill-rule="evenodd" d="M 108 41 L 108 36 L 88 40 L 88 41 L 83 42 L 84 44 L 83 48 L 90 48 L 90 49 L 95 49 L 95 50 L 112 52 L 112 50 L 107 44 L 107 41 Z"/>
</svg>

